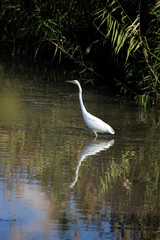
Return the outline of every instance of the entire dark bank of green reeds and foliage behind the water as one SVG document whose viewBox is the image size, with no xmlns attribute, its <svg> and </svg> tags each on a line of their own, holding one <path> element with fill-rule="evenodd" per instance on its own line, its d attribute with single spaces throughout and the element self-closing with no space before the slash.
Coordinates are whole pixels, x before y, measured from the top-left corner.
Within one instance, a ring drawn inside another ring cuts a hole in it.
<svg viewBox="0 0 160 240">
<path fill-rule="evenodd" d="M 158 0 L 150 4 L 138 0 L 1 3 L 1 46 L 10 46 L 13 55 L 29 54 L 35 60 L 50 56 L 49 60 L 59 62 L 66 56 L 78 64 L 82 78 L 117 79 L 113 70 L 109 77 L 107 72 L 113 61 L 107 51 L 111 43 L 114 56 L 118 56 L 116 66 L 124 66 L 125 76 L 117 81 L 121 93 L 133 94 L 145 106 L 160 101 Z M 87 58 L 86 49 L 90 52 L 93 45 L 96 47 Z"/>
</svg>

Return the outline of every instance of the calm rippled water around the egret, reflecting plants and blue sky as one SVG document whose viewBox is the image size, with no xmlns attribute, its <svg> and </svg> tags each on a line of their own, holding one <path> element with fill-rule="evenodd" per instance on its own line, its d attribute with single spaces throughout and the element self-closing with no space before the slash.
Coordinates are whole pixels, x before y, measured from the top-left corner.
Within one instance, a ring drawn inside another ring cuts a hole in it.
<svg viewBox="0 0 160 240">
<path fill-rule="evenodd" d="M 159 110 L 85 90 L 95 140 L 78 88 L 27 71 L 0 67 L 0 239 L 160 239 Z"/>
</svg>

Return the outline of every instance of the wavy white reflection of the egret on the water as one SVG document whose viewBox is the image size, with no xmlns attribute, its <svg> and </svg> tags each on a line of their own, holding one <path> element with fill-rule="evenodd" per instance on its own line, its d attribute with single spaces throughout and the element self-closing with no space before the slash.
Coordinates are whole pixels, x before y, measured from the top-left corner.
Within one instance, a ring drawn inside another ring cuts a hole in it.
<svg viewBox="0 0 160 240">
<path fill-rule="evenodd" d="M 76 167 L 75 171 L 75 179 L 73 183 L 70 184 L 70 188 L 73 188 L 75 183 L 78 180 L 78 172 L 79 168 L 81 166 L 82 161 L 87 157 L 91 155 L 96 155 L 97 153 L 109 149 L 111 146 L 114 145 L 114 140 L 108 140 L 108 141 L 96 141 L 95 139 L 89 143 L 87 146 L 85 146 L 81 152 L 81 155 L 79 157 L 79 161 Z"/>
</svg>

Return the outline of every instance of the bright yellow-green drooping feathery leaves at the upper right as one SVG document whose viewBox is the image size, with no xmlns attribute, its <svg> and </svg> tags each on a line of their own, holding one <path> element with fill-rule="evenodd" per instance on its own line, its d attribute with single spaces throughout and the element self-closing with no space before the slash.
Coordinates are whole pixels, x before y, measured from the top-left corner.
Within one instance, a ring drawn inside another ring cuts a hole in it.
<svg viewBox="0 0 160 240">
<path fill-rule="evenodd" d="M 97 26 L 97 21 L 100 21 L 99 26 Z M 135 20 L 135 23 L 136 22 L 137 20 Z M 117 0 L 111 1 L 106 4 L 105 7 L 96 10 L 94 24 L 97 30 L 100 31 L 105 37 L 105 39 L 110 38 L 115 54 L 119 53 L 129 38 L 131 38 L 131 43 L 129 45 L 127 55 L 129 55 L 131 50 L 134 49 L 135 38 L 131 37 L 130 29 L 132 28 L 132 25 L 129 26 L 129 24 L 132 24 L 132 21 Z M 101 30 L 103 25 L 107 25 L 107 28 L 104 27 L 104 31 L 106 32 Z"/>
</svg>

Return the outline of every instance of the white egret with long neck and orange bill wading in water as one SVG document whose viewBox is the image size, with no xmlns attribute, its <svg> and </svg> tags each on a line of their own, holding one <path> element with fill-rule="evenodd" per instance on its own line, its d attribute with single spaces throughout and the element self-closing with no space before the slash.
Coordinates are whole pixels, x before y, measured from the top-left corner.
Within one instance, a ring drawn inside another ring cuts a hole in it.
<svg viewBox="0 0 160 240">
<path fill-rule="evenodd" d="M 93 116 L 89 112 L 87 112 L 83 100 L 82 100 L 82 88 L 80 83 L 77 80 L 73 81 L 66 81 L 69 83 L 73 83 L 78 86 L 79 88 L 79 102 L 80 102 L 80 107 L 83 115 L 83 119 L 87 125 L 87 127 L 94 133 L 95 137 L 98 137 L 97 132 L 100 133 L 111 133 L 115 134 L 115 131 L 111 126 L 109 126 L 107 123 L 103 122 L 101 119 Z"/>
</svg>

